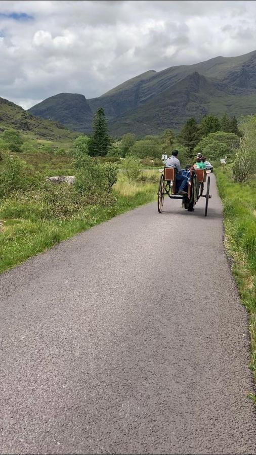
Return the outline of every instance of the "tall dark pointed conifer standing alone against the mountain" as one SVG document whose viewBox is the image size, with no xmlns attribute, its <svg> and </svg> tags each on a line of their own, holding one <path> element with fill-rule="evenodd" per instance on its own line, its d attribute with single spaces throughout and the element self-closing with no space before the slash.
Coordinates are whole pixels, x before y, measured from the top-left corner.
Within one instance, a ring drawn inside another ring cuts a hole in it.
<svg viewBox="0 0 256 455">
<path fill-rule="evenodd" d="M 109 142 L 105 111 L 100 107 L 94 114 L 92 139 L 89 143 L 89 155 L 106 156 Z"/>
</svg>

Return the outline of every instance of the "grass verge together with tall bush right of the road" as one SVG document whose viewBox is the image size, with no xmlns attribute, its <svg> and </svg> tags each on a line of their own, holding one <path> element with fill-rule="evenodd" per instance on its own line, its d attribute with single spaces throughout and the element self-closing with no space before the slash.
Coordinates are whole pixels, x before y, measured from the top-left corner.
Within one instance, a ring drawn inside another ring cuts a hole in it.
<svg viewBox="0 0 256 455">
<path fill-rule="evenodd" d="M 256 115 L 244 118 L 240 128 L 240 147 L 225 169 L 216 169 L 216 175 L 224 206 L 225 247 L 249 314 L 250 368 L 256 381 Z M 256 396 L 249 396 L 256 404 Z"/>
</svg>

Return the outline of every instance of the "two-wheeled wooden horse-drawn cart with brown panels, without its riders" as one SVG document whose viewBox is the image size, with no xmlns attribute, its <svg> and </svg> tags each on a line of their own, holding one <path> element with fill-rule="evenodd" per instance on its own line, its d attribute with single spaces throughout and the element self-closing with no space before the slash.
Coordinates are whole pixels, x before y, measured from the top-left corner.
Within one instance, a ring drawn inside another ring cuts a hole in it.
<svg viewBox="0 0 256 455">
<path fill-rule="evenodd" d="M 188 211 L 194 210 L 194 205 L 200 197 L 205 198 L 205 216 L 207 216 L 208 200 L 211 198 L 209 194 L 210 177 L 207 178 L 206 193 L 203 194 L 204 184 L 206 183 L 206 169 L 191 169 L 188 182 L 188 193 L 180 196 L 176 182 L 176 169 L 173 167 L 165 167 L 159 179 L 157 207 L 161 213 L 163 209 L 164 196 L 167 195 L 170 199 L 182 199 L 184 208 Z"/>
</svg>

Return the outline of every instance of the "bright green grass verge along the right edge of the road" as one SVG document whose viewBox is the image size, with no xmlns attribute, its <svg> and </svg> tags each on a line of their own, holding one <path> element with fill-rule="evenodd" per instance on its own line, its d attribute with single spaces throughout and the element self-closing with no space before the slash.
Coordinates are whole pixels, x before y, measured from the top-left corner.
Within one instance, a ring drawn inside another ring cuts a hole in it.
<svg viewBox="0 0 256 455">
<path fill-rule="evenodd" d="M 219 194 L 224 205 L 225 246 L 232 258 L 232 271 L 241 300 L 249 313 L 250 368 L 256 381 L 256 184 L 234 183 L 231 170 L 216 169 Z M 256 397 L 251 395 L 256 404 Z"/>
</svg>

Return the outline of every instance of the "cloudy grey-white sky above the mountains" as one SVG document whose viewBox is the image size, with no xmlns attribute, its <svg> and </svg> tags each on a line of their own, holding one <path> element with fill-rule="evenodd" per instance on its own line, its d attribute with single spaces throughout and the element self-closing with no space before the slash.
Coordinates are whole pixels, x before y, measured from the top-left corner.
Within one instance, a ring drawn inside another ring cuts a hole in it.
<svg viewBox="0 0 256 455">
<path fill-rule="evenodd" d="M 256 1 L 0 1 L 0 97 L 95 98 L 148 70 L 256 49 Z"/>
</svg>

